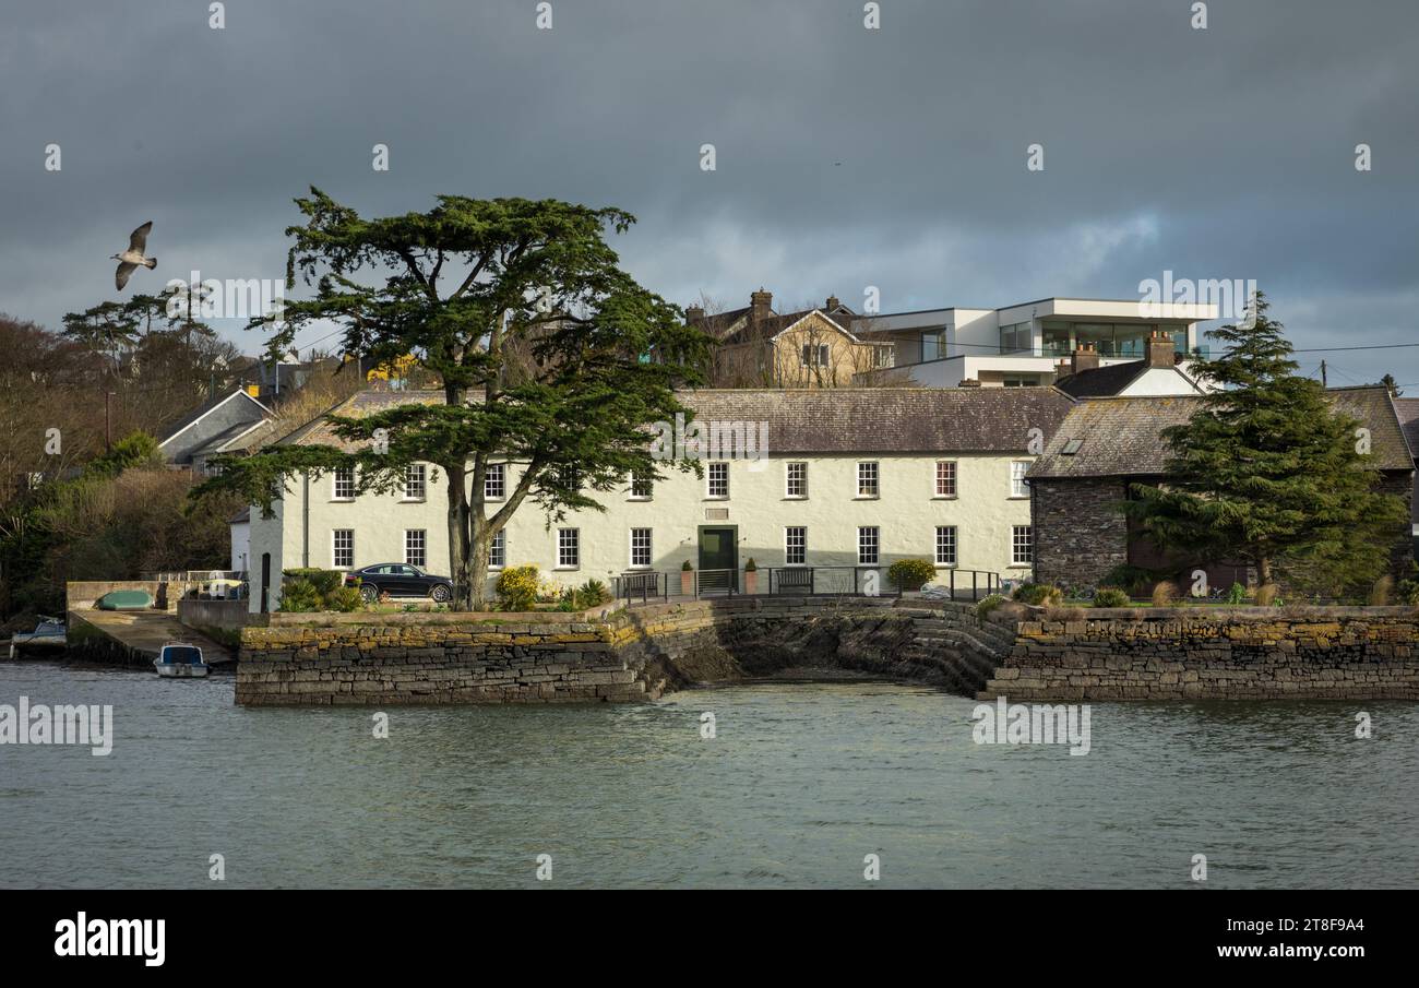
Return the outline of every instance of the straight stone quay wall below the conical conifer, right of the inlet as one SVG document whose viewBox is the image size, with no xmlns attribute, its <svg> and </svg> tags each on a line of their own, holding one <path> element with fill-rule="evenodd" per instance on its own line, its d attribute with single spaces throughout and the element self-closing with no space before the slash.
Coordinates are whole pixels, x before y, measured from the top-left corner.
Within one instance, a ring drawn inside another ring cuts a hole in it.
<svg viewBox="0 0 1419 988">
<path fill-rule="evenodd" d="M 1138 608 L 1022 620 L 982 700 L 1419 700 L 1413 608 Z"/>
</svg>

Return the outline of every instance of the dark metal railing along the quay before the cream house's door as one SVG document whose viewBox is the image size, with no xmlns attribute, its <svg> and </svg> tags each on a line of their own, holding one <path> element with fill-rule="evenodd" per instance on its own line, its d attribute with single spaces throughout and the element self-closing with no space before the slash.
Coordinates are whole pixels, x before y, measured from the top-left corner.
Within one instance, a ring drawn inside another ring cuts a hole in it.
<svg viewBox="0 0 1419 988">
<path fill-rule="evenodd" d="M 938 573 L 937 586 L 942 586 L 952 600 L 981 600 L 1003 589 L 1000 573 L 988 569 L 949 569 Z M 715 596 L 901 596 L 902 589 L 891 582 L 885 566 L 839 565 L 761 566 L 748 572 L 647 569 L 612 576 L 612 593 L 627 603 L 648 603 Z"/>
</svg>

